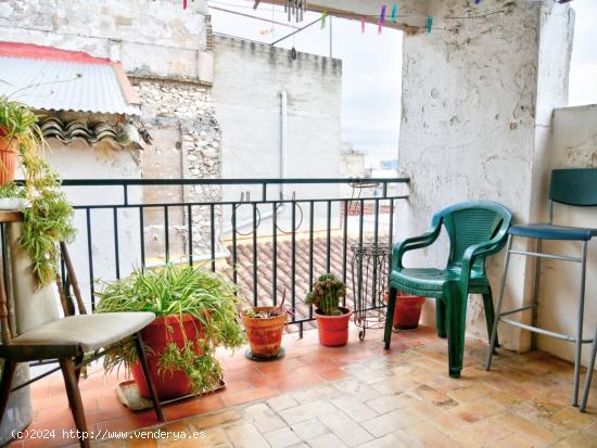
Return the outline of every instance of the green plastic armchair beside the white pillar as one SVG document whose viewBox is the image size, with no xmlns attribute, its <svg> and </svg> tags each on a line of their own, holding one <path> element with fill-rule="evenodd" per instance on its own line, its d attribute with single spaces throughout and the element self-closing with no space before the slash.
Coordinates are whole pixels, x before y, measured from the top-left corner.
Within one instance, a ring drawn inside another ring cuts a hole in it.
<svg viewBox="0 0 597 448">
<path fill-rule="evenodd" d="M 435 214 L 430 232 L 397 243 L 392 251 L 390 297 L 385 316 L 394 316 L 398 291 L 435 297 L 437 335 L 448 338 L 452 377 L 460 377 L 462 370 L 469 294 L 483 295 L 487 333 L 491 336 L 494 304 L 490 281 L 485 274 L 485 258 L 504 247 L 511 220 L 510 212 L 498 203 L 463 202 Z M 405 268 L 404 254 L 433 244 L 440 235 L 442 225 L 449 238 L 446 268 Z M 392 319 L 385 319 L 383 341 L 386 349 L 390 348 L 391 338 Z"/>
</svg>

